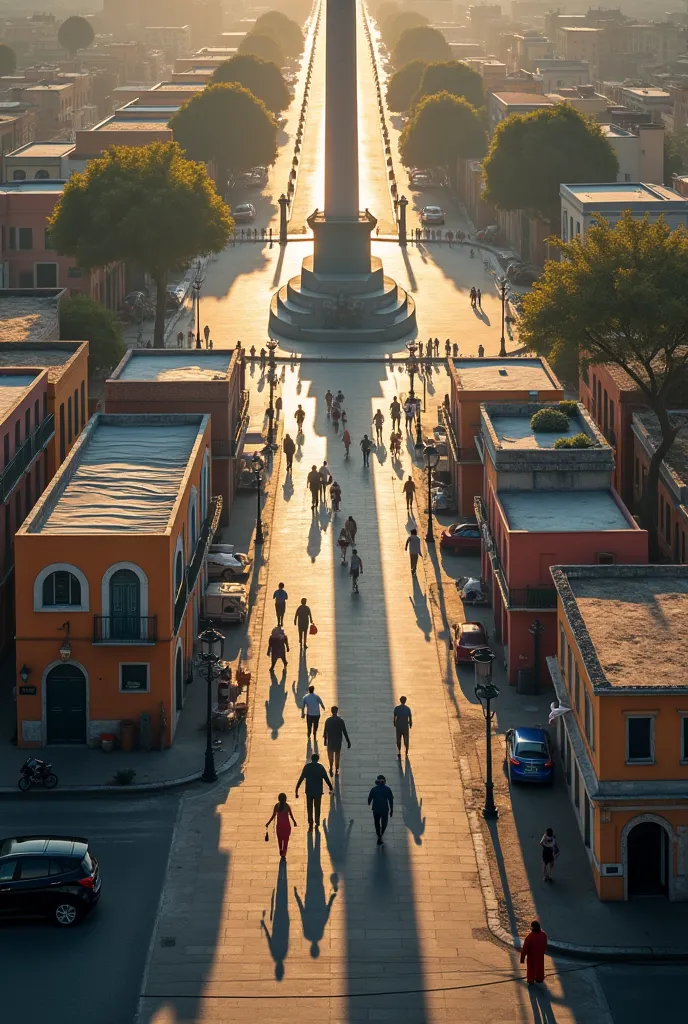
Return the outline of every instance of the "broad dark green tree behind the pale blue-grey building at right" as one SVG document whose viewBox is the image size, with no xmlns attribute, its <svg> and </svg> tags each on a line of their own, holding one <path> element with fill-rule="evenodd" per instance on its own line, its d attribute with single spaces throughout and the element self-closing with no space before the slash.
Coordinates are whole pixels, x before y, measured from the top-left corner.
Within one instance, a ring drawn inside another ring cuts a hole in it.
<svg viewBox="0 0 688 1024">
<path fill-rule="evenodd" d="M 558 225 L 560 184 L 615 181 L 618 161 L 599 124 L 557 103 L 499 124 L 483 171 L 488 203 L 541 213 Z"/>
</svg>

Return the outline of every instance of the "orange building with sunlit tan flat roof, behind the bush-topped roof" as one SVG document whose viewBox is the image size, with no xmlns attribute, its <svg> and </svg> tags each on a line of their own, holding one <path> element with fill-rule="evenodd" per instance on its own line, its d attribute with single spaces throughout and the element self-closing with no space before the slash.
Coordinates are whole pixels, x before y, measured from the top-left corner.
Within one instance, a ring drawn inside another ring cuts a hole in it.
<svg viewBox="0 0 688 1024">
<path fill-rule="evenodd" d="M 459 512 L 473 515 L 482 494 L 482 461 L 476 446 L 484 401 L 558 401 L 564 389 L 546 359 L 448 359 L 449 411 L 442 407 L 449 447 L 449 471 Z"/>
</svg>

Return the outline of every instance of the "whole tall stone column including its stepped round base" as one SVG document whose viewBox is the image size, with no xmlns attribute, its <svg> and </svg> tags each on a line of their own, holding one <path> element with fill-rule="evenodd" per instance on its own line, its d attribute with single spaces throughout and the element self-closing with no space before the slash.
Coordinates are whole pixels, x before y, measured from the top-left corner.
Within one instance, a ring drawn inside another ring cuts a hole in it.
<svg viewBox="0 0 688 1024">
<path fill-rule="evenodd" d="M 270 330 L 300 341 L 392 341 L 416 327 L 413 298 L 371 254 L 358 209 L 356 0 L 327 0 L 325 210 L 308 217 L 313 255 L 273 295 Z"/>
</svg>

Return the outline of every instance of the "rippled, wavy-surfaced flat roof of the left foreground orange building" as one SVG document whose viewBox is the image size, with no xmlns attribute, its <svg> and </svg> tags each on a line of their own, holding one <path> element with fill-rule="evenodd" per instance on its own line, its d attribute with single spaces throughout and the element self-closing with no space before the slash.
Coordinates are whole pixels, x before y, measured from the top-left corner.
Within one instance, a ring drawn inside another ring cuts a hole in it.
<svg viewBox="0 0 688 1024">
<path fill-rule="evenodd" d="M 96 416 L 27 534 L 161 534 L 207 424 L 202 416 Z"/>
</svg>

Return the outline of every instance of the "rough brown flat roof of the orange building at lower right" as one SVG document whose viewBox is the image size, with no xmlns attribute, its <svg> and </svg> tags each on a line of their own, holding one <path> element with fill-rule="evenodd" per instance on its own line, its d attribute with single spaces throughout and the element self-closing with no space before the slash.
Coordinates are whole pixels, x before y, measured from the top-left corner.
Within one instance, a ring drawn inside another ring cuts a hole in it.
<svg viewBox="0 0 688 1024">
<path fill-rule="evenodd" d="M 688 566 L 562 565 L 552 578 L 596 689 L 688 688 Z"/>
</svg>

